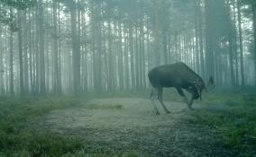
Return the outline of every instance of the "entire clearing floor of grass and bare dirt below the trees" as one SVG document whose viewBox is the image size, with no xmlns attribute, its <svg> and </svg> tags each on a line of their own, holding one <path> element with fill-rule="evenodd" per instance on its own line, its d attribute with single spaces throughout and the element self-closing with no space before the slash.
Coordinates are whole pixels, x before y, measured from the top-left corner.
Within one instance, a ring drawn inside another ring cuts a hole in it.
<svg viewBox="0 0 256 157">
<path fill-rule="evenodd" d="M 204 93 L 189 110 L 171 91 L 165 94 L 171 113 L 160 115 L 145 93 L 116 95 L 2 98 L 0 154 L 255 156 L 255 92 Z"/>
</svg>

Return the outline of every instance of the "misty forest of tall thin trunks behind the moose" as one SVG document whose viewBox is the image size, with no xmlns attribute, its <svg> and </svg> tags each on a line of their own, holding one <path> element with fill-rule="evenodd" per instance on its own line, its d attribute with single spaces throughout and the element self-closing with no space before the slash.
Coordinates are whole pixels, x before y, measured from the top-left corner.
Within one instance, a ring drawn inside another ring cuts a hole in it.
<svg viewBox="0 0 256 157">
<path fill-rule="evenodd" d="M 254 0 L 0 0 L 0 95 L 144 90 L 185 62 L 256 85 Z"/>
</svg>

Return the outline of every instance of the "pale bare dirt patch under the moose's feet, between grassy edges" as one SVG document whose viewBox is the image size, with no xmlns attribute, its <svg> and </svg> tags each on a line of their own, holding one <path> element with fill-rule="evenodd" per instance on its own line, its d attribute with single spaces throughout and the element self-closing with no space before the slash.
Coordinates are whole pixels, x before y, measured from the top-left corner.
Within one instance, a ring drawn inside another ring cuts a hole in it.
<svg viewBox="0 0 256 157">
<path fill-rule="evenodd" d="M 51 111 L 41 127 L 55 133 L 76 135 L 98 149 L 136 151 L 150 156 L 228 156 L 215 130 L 186 122 L 185 103 L 166 102 L 171 114 L 160 105 L 154 115 L 150 100 L 111 98 L 90 100 L 79 108 Z M 194 104 L 195 109 L 202 109 Z"/>
</svg>

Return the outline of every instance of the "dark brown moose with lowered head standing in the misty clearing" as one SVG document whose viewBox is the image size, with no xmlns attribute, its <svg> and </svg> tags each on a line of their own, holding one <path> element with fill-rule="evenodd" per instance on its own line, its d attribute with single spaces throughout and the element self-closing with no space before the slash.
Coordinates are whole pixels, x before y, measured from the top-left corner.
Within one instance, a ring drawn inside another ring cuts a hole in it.
<svg viewBox="0 0 256 157">
<path fill-rule="evenodd" d="M 151 86 L 151 100 L 154 105 L 156 114 L 159 115 L 160 112 L 157 109 L 154 100 L 155 92 L 157 92 L 158 100 L 166 113 L 169 113 L 169 110 L 163 103 L 162 93 L 163 87 L 174 87 L 178 91 L 178 94 L 187 102 L 188 109 L 192 109 L 193 100 L 201 98 L 203 90 L 206 90 L 206 84 L 203 79 L 191 70 L 186 64 L 178 62 L 172 65 L 160 65 L 151 69 L 148 74 Z M 211 76 L 207 86 L 214 85 L 213 77 Z M 187 100 L 185 93 L 182 91 L 185 89 L 187 92 L 192 94 L 191 100 Z"/>
</svg>

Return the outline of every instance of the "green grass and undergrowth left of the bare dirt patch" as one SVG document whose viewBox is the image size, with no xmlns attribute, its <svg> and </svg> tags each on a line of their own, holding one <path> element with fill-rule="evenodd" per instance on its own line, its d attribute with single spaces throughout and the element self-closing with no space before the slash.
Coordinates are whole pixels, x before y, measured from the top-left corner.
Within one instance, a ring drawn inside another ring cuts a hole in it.
<svg viewBox="0 0 256 157">
<path fill-rule="evenodd" d="M 89 99 L 92 97 L 0 98 L 0 157 L 138 156 L 87 148 L 85 140 L 39 132 L 31 125 L 53 109 L 74 108 Z"/>
</svg>

